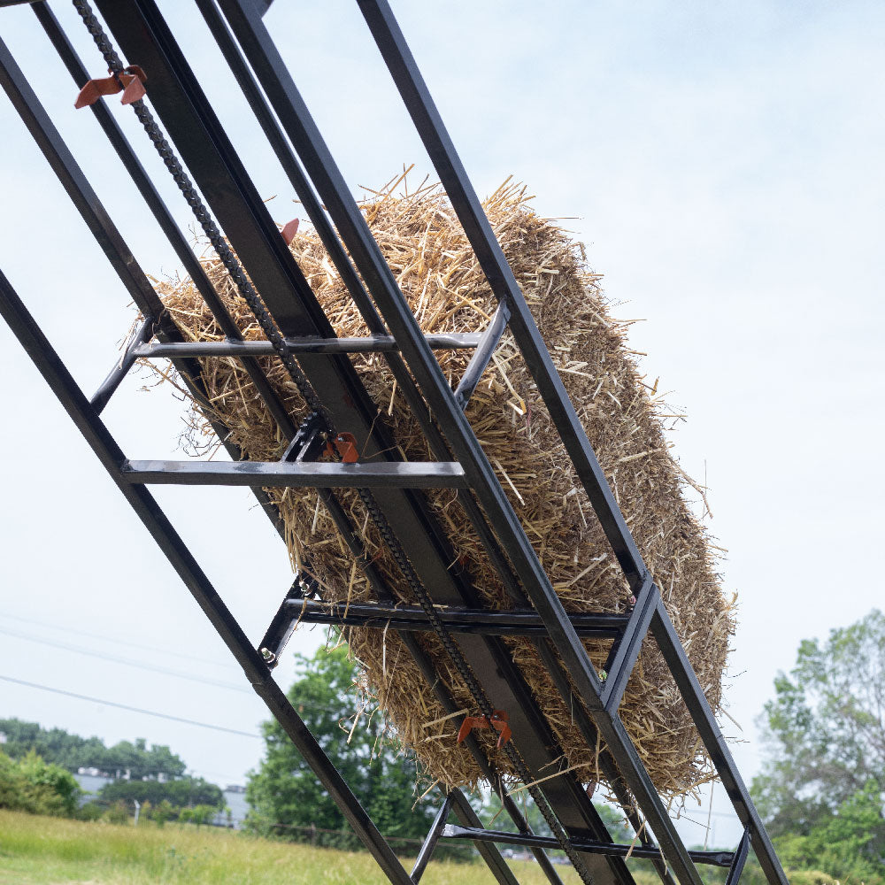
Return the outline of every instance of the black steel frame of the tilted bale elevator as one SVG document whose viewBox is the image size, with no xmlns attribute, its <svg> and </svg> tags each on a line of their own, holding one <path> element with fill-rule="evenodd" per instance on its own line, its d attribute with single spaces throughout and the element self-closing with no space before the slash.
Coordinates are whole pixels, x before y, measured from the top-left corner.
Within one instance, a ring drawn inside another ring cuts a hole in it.
<svg viewBox="0 0 885 885">
<path fill-rule="evenodd" d="M 502 883 L 514 883 L 515 879 L 496 843 L 526 845 L 535 853 L 550 882 L 558 885 L 558 874 L 544 853 L 547 848 L 558 847 L 558 843 L 533 835 L 516 803 L 503 789 L 500 792 L 504 806 L 517 824 L 517 835 L 484 829 L 466 798 L 455 790 L 445 798 L 412 873 L 406 873 L 273 681 L 272 668 L 299 620 L 343 627 L 392 627 L 434 686 L 443 707 L 447 712 L 457 712 L 457 705 L 436 679 L 434 667 L 417 641 L 417 634 L 430 628 L 427 615 L 421 609 L 393 605 L 394 594 L 364 555 L 357 529 L 338 504 L 332 489 L 339 487 L 374 489 L 381 512 L 389 520 L 398 543 L 415 563 L 419 579 L 435 604 L 441 606 L 438 611 L 444 626 L 458 634 L 458 647 L 474 671 L 483 674 L 483 688 L 495 699 L 496 706 L 512 712 L 513 740 L 539 778 L 544 766 L 558 757 L 556 741 L 499 638 L 504 635 L 532 638 L 566 704 L 574 710 L 575 723 L 584 737 L 591 744 L 600 738 L 604 742 L 607 750 L 600 755 L 600 768 L 635 827 L 633 856 L 650 858 L 662 881 L 667 883 L 673 882 L 674 873 L 683 885 L 700 885 L 697 863 L 729 866 L 728 882 L 736 883 L 751 845 L 768 881 L 772 885 L 786 885 L 772 843 L 682 649 L 658 588 L 605 481 L 389 4 L 386 0 L 357 2 L 498 299 L 498 310 L 482 333 L 425 336 L 421 332 L 266 31 L 261 16 L 269 4 L 258 4 L 255 0 L 196 0 L 305 212 L 366 321 L 369 335 L 364 338 L 335 338 L 154 0 L 97 0 L 97 6 L 127 57 L 148 72 L 146 85 L 150 101 L 262 294 L 281 329 L 286 350 L 298 359 L 320 401 L 335 420 L 335 426 L 356 436 L 361 451 L 358 464 L 320 463 L 309 456 L 308 451 L 317 440 L 316 428 L 312 433 L 303 430 L 299 434 L 257 360 L 258 356 L 273 355 L 276 351 L 263 342 L 242 341 L 242 335 L 145 173 L 136 151 L 122 135 L 108 107 L 99 102 L 93 106 L 98 124 L 127 166 L 136 187 L 226 335 L 223 342 L 181 341 L 150 282 L 3 42 L 0 42 L 0 83 L 146 319 L 135 331 L 123 357 L 89 400 L 2 273 L 0 313 L 389 881 L 418 882 L 439 839 L 450 837 L 472 839 L 496 881 Z M 9 4 L 0 3 L 3 5 Z M 37 2 L 33 8 L 59 57 L 81 87 L 88 79 L 87 70 L 58 20 L 46 3 Z M 93 66 L 100 69 L 97 62 Z M 466 404 L 507 329 L 533 375 L 635 594 L 635 606 L 627 615 L 569 615 L 563 609 L 466 419 Z M 156 342 L 152 342 L 153 339 Z M 433 354 L 434 349 L 445 348 L 474 351 L 455 390 L 450 388 Z M 375 420 L 375 407 L 346 357 L 348 353 L 366 351 L 379 352 L 387 360 L 399 389 L 427 435 L 434 461 L 416 464 L 398 459 L 395 441 L 383 423 Z M 243 460 L 241 453 L 227 442 L 227 428 L 218 419 L 213 419 L 214 429 L 219 439 L 225 441 L 232 458 L 230 463 L 135 462 L 119 450 L 100 416 L 135 360 L 171 358 L 196 401 L 204 402 L 197 357 L 242 360 L 258 395 L 264 399 L 281 435 L 289 442 L 280 461 Z M 280 520 L 263 489 L 272 486 L 317 488 L 351 553 L 371 582 L 377 603 L 351 605 L 343 612 L 309 599 L 315 595 L 316 587 L 309 581 L 296 579 L 262 642 L 257 647 L 251 645 L 150 495 L 147 486 L 151 483 L 249 486 L 279 529 Z M 467 519 L 512 596 L 512 611 L 489 612 L 481 608 L 469 574 L 458 566 L 443 529 L 419 491 L 442 486 L 458 489 L 458 501 Z M 689 852 L 685 848 L 618 717 L 620 699 L 643 639 L 649 634 L 658 643 L 673 673 L 700 738 L 743 823 L 744 835 L 734 853 Z M 604 678 L 600 678 L 590 664 L 581 642 L 581 637 L 586 636 L 613 640 Z M 468 737 L 466 746 L 489 782 L 500 786 L 496 771 L 473 737 Z M 565 827 L 573 850 L 580 853 L 592 873 L 601 877 L 600 881 L 616 881 L 620 885 L 633 881 L 624 863 L 624 857 L 630 853 L 629 846 L 612 843 L 576 774 L 563 773 L 545 781 L 543 795 Z M 447 827 L 450 812 L 458 817 L 460 827 Z M 653 838 L 657 842 L 652 841 Z"/>
</svg>

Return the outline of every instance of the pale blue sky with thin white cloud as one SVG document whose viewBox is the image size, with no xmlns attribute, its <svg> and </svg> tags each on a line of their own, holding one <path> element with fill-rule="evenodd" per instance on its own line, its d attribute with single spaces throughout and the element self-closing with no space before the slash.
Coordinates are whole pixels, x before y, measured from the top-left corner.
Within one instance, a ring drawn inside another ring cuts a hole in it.
<svg viewBox="0 0 885 885">
<path fill-rule="evenodd" d="M 274 197 L 274 218 L 288 221 L 298 214 L 292 190 L 196 6 L 159 5 L 259 192 Z M 103 75 L 73 10 L 53 8 Z M 725 587 L 740 599 L 728 712 L 743 731 L 722 725 L 739 739 L 733 751 L 749 781 L 761 762 L 756 720 L 798 643 L 881 604 L 866 558 L 881 547 L 885 493 L 885 7 L 393 8 L 477 191 L 513 175 L 539 212 L 569 219 L 604 273 L 614 314 L 643 318 L 630 342 L 648 354 L 645 371 L 689 416 L 674 451 L 711 489 Z M 266 21 L 355 193 L 404 164 L 419 178 L 431 172 L 356 4 L 277 0 Z M 0 37 L 142 267 L 175 273 L 91 114 L 73 110 L 76 89 L 33 13 L 0 11 Z M 190 227 L 131 112 L 116 99 L 111 107 Z M 0 267 L 90 393 L 133 308 L 5 96 L 0 135 Z M 108 425 L 130 457 L 183 457 L 182 405 L 142 390 L 147 380 L 127 380 Z M 0 396 L 0 676 L 246 734 L 3 680 L 0 716 L 109 743 L 143 736 L 222 786 L 242 782 L 260 758 L 263 704 L 3 324 Z M 291 579 L 247 490 L 157 496 L 257 642 Z M 320 643 L 319 630 L 304 631 L 290 649 Z M 276 672 L 288 687 L 293 658 Z M 739 835 L 722 793 L 714 790 L 712 843 Z M 705 819 L 706 807 L 694 816 Z M 681 827 L 703 841 L 698 825 Z"/>
</svg>

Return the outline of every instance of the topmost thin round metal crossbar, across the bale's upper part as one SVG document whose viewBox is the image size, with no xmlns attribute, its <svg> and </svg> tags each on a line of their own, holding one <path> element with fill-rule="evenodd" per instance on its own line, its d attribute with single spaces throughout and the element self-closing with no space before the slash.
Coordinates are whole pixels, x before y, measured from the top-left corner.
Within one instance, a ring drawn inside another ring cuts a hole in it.
<svg viewBox="0 0 885 885">
<path fill-rule="evenodd" d="M 426 335 L 434 350 L 473 350 L 482 335 Z M 393 335 L 366 335 L 361 338 L 285 338 L 290 353 L 386 353 L 399 350 Z M 142 344 L 135 350 L 139 359 L 187 357 L 273 357 L 276 350 L 269 341 L 207 341 Z"/>
</svg>

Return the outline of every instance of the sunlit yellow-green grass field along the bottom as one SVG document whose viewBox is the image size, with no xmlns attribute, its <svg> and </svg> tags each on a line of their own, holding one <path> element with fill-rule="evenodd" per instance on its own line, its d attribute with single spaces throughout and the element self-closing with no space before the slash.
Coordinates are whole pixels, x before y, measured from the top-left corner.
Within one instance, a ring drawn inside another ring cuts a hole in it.
<svg viewBox="0 0 885 885">
<path fill-rule="evenodd" d="M 406 869 L 411 865 L 404 861 Z M 521 885 L 546 882 L 531 862 L 513 861 Z M 558 867 L 565 885 L 577 877 Z M 214 827 L 45 818 L 0 810 L 0 885 L 383 885 L 366 852 L 269 842 Z M 422 885 L 493 885 L 481 863 L 431 863 Z"/>
</svg>

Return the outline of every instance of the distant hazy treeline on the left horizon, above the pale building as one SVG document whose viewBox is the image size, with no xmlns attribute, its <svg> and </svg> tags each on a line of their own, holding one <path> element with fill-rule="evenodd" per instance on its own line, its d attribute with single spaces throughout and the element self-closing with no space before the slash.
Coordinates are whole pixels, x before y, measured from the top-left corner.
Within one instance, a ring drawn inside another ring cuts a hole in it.
<svg viewBox="0 0 885 885">
<path fill-rule="evenodd" d="M 70 735 L 63 728 L 42 728 L 36 722 L 17 719 L 0 720 L 0 733 L 6 735 L 0 749 L 9 758 L 21 759 L 33 750 L 46 762 L 74 773 L 80 768 L 96 768 L 109 777 L 128 772 L 131 778 L 141 780 L 181 777 L 187 768 L 168 747 L 148 747 L 143 738 L 108 747 L 97 737 Z"/>
</svg>

